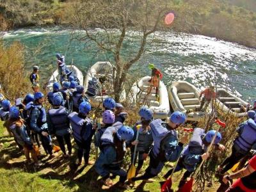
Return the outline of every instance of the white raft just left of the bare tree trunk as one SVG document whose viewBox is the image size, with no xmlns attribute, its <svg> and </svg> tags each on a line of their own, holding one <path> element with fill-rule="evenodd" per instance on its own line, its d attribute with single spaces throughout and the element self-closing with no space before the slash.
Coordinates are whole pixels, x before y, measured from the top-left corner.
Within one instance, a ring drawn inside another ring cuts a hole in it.
<svg viewBox="0 0 256 192">
<path fill-rule="evenodd" d="M 104 75 L 108 78 L 108 83 L 110 83 L 111 88 L 106 90 L 106 93 L 113 92 L 113 68 L 115 68 L 111 63 L 108 61 L 98 61 L 92 67 L 88 70 L 86 77 L 84 79 L 84 90 L 88 89 L 88 82 L 92 81 L 93 77 L 94 79 L 97 79 L 97 82 L 99 83 L 99 77 Z M 104 84 L 99 83 L 99 87 L 97 87 L 98 92 L 97 95 L 90 96 L 87 95 L 90 99 L 90 103 L 92 104 L 93 108 L 97 108 L 102 104 L 102 101 L 106 99 L 107 97 L 110 97 L 107 94 L 101 94 L 102 86 Z M 125 90 L 122 91 L 120 95 L 120 101 L 125 100 Z"/>
</svg>

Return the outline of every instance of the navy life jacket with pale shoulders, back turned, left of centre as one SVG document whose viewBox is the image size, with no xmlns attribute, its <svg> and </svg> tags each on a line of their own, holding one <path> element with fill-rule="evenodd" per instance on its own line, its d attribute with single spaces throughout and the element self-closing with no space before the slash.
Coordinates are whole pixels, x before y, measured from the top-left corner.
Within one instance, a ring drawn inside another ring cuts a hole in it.
<svg viewBox="0 0 256 192">
<path fill-rule="evenodd" d="M 52 125 L 54 125 L 56 135 L 61 135 L 61 132 L 67 132 L 69 129 L 68 113 L 66 108 L 60 107 L 58 109 L 49 110 L 49 118 Z"/>
</svg>

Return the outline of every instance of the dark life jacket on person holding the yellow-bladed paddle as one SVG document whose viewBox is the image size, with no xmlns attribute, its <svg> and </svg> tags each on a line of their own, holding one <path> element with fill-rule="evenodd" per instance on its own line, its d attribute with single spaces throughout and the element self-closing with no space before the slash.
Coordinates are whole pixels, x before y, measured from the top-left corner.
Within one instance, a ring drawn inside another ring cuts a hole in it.
<svg viewBox="0 0 256 192">
<path fill-rule="evenodd" d="M 141 122 L 138 122 L 136 125 L 140 125 L 140 124 L 141 124 Z M 133 127 L 134 136 L 136 136 L 136 134 L 137 134 L 136 125 Z M 139 129 L 138 141 L 139 141 L 139 143 L 137 145 L 136 151 L 144 152 L 145 150 L 148 150 L 148 148 L 150 148 L 150 146 L 153 143 L 151 130 L 148 130 L 147 132 L 143 132 L 143 128 L 141 127 Z"/>
</svg>

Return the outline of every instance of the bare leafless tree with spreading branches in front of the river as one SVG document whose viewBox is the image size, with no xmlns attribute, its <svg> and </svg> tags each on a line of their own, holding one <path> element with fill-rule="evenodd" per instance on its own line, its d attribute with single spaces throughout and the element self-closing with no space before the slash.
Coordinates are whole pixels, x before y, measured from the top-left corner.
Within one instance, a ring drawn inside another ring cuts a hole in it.
<svg viewBox="0 0 256 192">
<path fill-rule="evenodd" d="M 113 58 L 116 100 L 120 99 L 127 72 L 145 52 L 148 37 L 164 27 L 163 17 L 167 11 L 167 1 L 156 0 L 80 0 L 70 4 L 70 24 L 74 29 L 84 30 L 76 38 L 87 45 L 97 45 Z M 125 58 L 122 50 L 125 41 L 132 44 L 131 37 L 135 37 L 138 47 L 133 47 L 132 53 Z"/>
</svg>

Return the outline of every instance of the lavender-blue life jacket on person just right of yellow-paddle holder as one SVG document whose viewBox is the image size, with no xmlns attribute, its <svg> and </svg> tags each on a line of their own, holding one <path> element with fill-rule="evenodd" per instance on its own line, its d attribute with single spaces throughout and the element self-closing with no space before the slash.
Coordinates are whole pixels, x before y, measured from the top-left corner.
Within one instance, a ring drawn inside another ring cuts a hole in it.
<svg viewBox="0 0 256 192">
<path fill-rule="evenodd" d="M 150 127 L 151 127 L 152 137 L 154 140 L 154 145 L 152 150 L 153 150 L 154 156 L 157 157 L 160 152 L 161 141 L 163 140 L 163 138 L 166 137 L 166 135 L 170 131 L 166 128 L 166 123 L 163 122 L 161 119 L 153 120 L 150 123 Z"/>
</svg>

